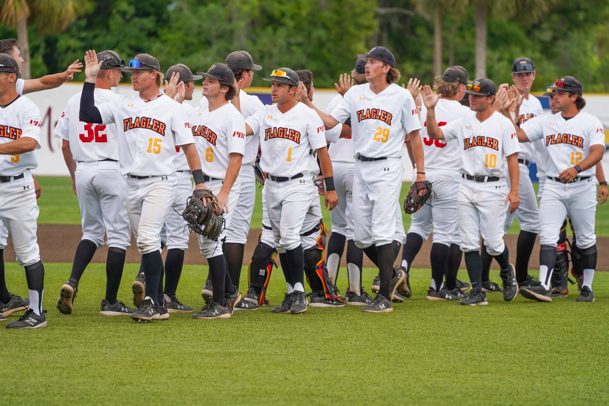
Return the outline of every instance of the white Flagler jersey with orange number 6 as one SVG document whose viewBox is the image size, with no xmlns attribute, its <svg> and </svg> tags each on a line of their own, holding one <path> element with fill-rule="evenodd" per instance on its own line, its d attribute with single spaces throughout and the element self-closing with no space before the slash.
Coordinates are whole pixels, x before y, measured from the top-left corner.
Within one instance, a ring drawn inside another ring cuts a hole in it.
<svg viewBox="0 0 609 406">
<path fill-rule="evenodd" d="M 197 109 L 191 128 L 203 173 L 211 178 L 224 179 L 230 161 L 228 154 L 244 154 L 243 116 L 230 103 L 214 111 Z"/>
</svg>

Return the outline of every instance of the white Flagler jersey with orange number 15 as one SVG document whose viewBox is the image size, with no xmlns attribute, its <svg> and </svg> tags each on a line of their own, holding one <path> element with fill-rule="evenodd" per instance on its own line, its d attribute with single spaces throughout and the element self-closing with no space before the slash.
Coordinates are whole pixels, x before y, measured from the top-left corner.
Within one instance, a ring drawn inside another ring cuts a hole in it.
<svg viewBox="0 0 609 406">
<path fill-rule="evenodd" d="M 102 124 L 116 123 L 125 174 L 170 175 L 175 147 L 194 142 L 185 108 L 165 94 L 149 102 L 139 94 L 121 96 L 96 107 Z"/>
</svg>

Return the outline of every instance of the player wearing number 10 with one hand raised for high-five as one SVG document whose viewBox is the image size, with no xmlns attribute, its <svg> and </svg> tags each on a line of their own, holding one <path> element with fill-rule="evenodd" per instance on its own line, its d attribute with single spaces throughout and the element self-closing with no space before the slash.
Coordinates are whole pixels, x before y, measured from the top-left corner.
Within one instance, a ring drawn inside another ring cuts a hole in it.
<svg viewBox="0 0 609 406">
<path fill-rule="evenodd" d="M 516 271 L 509 262 L 509 251 L 503 242 L 505 223 L 504 205 L 510 204 L 513 212 L 518 208 L 518 153 L 519 145 L 509 119 L 493 110 L 497 88 L 490 79 L 480 78 L 469 83 L 470 108 L 476 114 L 438 126 L 435 106 L 440 96 L 423 88 L 423 102 L 428 108 L 427 131 L 430 139 L 457 139 L 460 145 L 459 194 L 457 217 L 461 250 L 472 290 L 460 304 L 476 306 L 487 303 L 482 290 L 482 264 L 480 236 L 487 243 L 487 250 L 501 267 L 504 300 L 511 301 L 518 295 Z M 510 173 L 511 187 L 505 180 L 504 158 Z M 506 197 L 507 195 L 507 197 Z"/>
</svg>

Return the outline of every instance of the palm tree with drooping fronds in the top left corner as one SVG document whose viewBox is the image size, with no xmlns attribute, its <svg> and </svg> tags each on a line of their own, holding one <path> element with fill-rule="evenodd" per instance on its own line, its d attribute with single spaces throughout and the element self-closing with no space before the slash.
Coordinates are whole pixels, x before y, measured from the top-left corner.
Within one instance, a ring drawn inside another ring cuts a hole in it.
<svg viewBox="0 0 609 406">
<path fill-rule="evenodd" d="M 27 21 L 32 18 L 38 33 L 63 31 L 88 12 L 89 0 L 0 0 L 0 23 L 17 29 L 19 50 L 24 63 L 21 76 L 30 78 L 30 46 Z"/>
</svg>

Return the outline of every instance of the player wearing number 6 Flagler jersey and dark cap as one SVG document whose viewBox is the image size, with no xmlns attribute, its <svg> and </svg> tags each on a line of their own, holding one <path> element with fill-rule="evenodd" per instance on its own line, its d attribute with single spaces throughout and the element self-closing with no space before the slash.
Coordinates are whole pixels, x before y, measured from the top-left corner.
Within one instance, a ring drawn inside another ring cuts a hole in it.
<svg viewBox="0 0 609 406">
<path fill-rule="evenodd" d="M 199 109 L 191 123 L 192 135 L 199 155 L 205 159 L 205 184 L 217 196 L 218 206 L 224 209 L 225 228 L 231 228 L 231 217 L 241 184 L 239 170 L 245 152 L 245 122 L 228 100 L 236 96 L 233 71 L 224 63 L 212 65 L 203 75 L 203 96 L 208 108 Z M 218 241 L 199 236 L 199 247 L 209 264 L 213 297 L 194 318 L 229 318 L 234 306 L 241 301 L 241 293 L 234 286 L 227 271 L 227 260 L 222 251 L 226 231 Z"/>
</svg>

